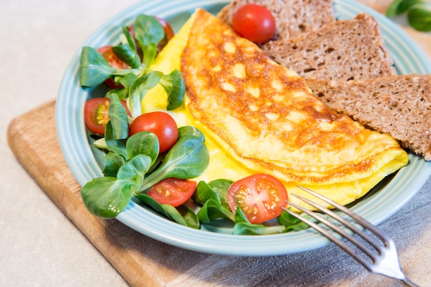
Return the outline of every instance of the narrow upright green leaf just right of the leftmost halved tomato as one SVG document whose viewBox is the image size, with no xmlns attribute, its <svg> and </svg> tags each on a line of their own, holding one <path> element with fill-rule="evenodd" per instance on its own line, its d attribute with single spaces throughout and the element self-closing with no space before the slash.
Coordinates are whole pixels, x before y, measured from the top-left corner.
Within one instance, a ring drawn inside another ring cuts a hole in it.
<svg viewBox="0 0 431 287">
<path fill-rule="evenodd" d="M 127 111 L 118 98 L 117 94 L 110 94 L 111 103 L 109 105 L 109 119 L 112 126 L 112 138 L 123 140 L 129 136 L 129 120 Z"/>
</svg>

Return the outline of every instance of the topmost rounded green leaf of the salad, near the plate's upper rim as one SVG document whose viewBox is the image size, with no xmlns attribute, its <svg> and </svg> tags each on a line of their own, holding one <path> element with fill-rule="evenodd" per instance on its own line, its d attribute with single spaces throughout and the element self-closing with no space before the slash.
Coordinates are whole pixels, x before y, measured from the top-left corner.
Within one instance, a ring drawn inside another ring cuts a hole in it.
<svg viewBox="0 0 431 287">
<path fill-rule="evenodd" d="M 143 63 L 149 67 L 156 58 L 158 43 L 165 38 L 165 30 L 156 18 L 140 14 L 134 22 L 134 36 L 143 50 Z"/>
</svg>

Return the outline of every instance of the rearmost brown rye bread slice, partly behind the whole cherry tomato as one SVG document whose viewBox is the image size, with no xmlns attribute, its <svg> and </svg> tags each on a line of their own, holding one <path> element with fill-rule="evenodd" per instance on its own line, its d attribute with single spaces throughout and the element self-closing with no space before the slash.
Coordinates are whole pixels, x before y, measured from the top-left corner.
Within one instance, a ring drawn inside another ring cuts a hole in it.
<svg viewBox="0 0 431 287">
<path fill-rule="evenodd" d="M 333 0 L 233 0 L 217 16 L 231 25 L 236 10 L 249 3 L 259 4 L 272 12 L 275 33 L 271 40 L 288 39 L 335 22 Z"/>
</svg>

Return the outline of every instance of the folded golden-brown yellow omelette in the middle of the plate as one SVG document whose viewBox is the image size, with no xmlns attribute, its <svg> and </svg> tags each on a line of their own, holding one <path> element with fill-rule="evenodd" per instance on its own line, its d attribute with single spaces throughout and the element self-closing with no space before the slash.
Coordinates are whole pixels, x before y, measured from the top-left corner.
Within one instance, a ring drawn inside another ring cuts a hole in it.
<svg viewBox="0 0 431 287">
<path fill-rule="evenodd" d="M 300 184 L 348 204 L 408 164 L 395 139 L 326 107 L 296 72 L 205 10 L 191 15 L 151 69 L 182 72 L 185 103 L 168 112 L 178 126 L 193 125 L 206 136 L 210 164 L 196 180 L 267 173 L 289 194 L 309 198 Z M 156 87 L 143 111 L 165 111 L 166 103 Z"/>
</svg>

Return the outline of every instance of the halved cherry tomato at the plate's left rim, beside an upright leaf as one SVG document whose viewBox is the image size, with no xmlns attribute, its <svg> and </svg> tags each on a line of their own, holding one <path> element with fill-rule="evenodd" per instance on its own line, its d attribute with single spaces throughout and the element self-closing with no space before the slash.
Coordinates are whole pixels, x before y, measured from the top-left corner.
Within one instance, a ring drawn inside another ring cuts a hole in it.
<svg viewBox="0 0 431 287">
<path fill-rule="evenodd" d="M 125 100 L 121 100 L 121 103 L 127 110 L 127 104 Z M 109 121 L 109 105 L 111 100 L 109 98 L 90 98 L 84 105 L 84 121 L 90 131 L 94 134 L 105 134 L 105 126 Z M 129 111 L 127 110 L 127 114 Z"/>
</svg>

